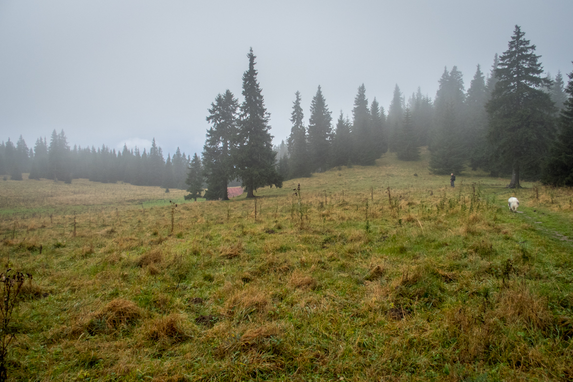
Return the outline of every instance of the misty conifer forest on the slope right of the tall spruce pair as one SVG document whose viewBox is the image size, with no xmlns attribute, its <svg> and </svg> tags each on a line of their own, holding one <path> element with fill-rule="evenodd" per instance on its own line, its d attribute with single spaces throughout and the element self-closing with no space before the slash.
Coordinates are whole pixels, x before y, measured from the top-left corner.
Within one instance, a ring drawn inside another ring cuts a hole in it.
<svg viewBox="0 0 573 382">
<path fill-rule="evenodd" d="M 520 178 L 571 186 L 571 83 L 565 89 L 560 72 L 542 77 L 535 49 L 516 26 L 508 50 L 494 56 L 488 75 L 477 65 L 467 91 L 461 71 L 446 67 L 433 100 L 418 87 L 406 102 L 396 85 L 387 113 L 376 98 L 368 103 L 362 84 L 352 121 L 341 111 L 334 127 L 320 86 L 308 126 L 297 91 L 291 134 L 274 147 L 278 171 L 289 179 L 335 166 L 371 165 L 388 150 L 399 160 L 415 161 L 427 146 L 434 174 L 480 168 L 496 177 L 511 174 L 511 188 L 520 186 Z"/>
</svg>

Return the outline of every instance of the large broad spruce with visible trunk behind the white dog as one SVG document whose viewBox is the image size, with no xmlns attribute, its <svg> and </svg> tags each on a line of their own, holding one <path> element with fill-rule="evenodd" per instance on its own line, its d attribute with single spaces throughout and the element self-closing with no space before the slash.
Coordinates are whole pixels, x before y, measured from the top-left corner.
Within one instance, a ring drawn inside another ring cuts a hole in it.
<svg viewBox="0 0 573 382">
<path fill-rule="evenodd" d="M 525 172 L 533 178 L 540 174 L 541 158 L 547 156 L 554 132 L 551 114 L 555 106 L 541 90 L 547 79 L 538 62 L 535 45 L 529 45 L 519 26 L 500 57 L 496 78 L 499 82 L 486 108 L 489 113 L 488 138 L 499 154 L 499 161 L 512 166 L 509 188 L 520 188 Z"/>
</svg>

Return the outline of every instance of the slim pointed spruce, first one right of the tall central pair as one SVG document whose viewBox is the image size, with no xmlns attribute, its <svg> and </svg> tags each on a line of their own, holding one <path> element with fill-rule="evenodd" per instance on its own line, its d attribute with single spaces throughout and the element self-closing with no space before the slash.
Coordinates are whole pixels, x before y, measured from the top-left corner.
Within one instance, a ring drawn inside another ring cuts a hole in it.
<svg viewBox="0 0 573 382">
<path fill-rule="evenodd" d="M 300 93 L 295 93 L 295 102 L 293 102 L 291 113 L 291 135 L 288 137 L 288 174 L 289 179 L 302 178 L 311 176 L 311 158 L 308 153 L 307 133 L 304 127 L 303 108 L 300 106 Z M 280 161 L 285 158 L 280 157 Z M 285 171 L 284 162 L 279 165 L 282 171 Z M 286 179 L 286 178 L 285 178 Z"/>
</svg>

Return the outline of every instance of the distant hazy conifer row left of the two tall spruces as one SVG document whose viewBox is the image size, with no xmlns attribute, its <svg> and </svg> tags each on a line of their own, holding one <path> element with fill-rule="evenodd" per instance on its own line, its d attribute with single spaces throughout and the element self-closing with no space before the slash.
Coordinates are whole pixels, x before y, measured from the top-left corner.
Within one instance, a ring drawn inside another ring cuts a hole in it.
<svg viewBox="0 0 573 382">
<path fill-rule="evenodd" d="M 70 148 L 64 130 L 54 130 L 50 143 L 38 138 L 34 148 L 28 148 L 20 136 L 16 144 L 10 141 L 0 144 L 0 174 L 10 175 L 12 180 L 22 180 L 22 173 L 30 179 L 40 178 L 71 183 L 73 179 L 115 183 L 123 181 L 134 185 L 161 186 L 186 189 L 186 176 L 191 158 L 177 148 L 175 154 L 163 157 L 163 150 L 155 143 L 143 153 L 136 147 L 116 152 L 102 145 L 100 148 Z"/>
</svg>

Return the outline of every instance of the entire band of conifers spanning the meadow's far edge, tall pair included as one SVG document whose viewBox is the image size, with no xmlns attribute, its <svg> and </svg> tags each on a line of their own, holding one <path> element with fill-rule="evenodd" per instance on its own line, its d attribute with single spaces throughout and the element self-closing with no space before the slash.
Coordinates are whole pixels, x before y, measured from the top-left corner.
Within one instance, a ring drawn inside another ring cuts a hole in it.
<svg viewBox="0 0 573 382">
<path fill-rule="evenodd" d="M 466 90 L 462 73 L 447 67 L 434 98 L 419 89 L 406 100 L 398 85 L 384 110 L 376 98 L 366 97 L 364 84 L 352 108 L 352 119 L 341 110 L 333 121 L 319 86 L 312 98 L 308 124 L 297 91 L 291 114 L 291 134 L 272 146 L 269 113 L 248 54 L 243 75 L 244 101 L 226 90 L 209 109 L 207 139 L 202 157 L 185 156 L 177 149 L 164 160 L 153 141 L 149 152 L 115 152 L 101 148 L 71 149 L 64 132 L 54 132 L 50 144 L 38 138 L 34 149 L 20 137 L 0 145 L 0 174 L 11 179 L 48 178 L 71 182 L 124 181 L 186 189 L 189 197 L 227 199 L 229 182 L 239 179 L 247 196 L 262 186 L 281 186 L 283 180 L 309 177 L 337 166 L 373 165 L 382 154 L 395 152 L 399 160 L 419 160 L 419 148 L 430 150 L 434 174 L 482 169 L 492 176 L 509 176 L 509 187 L 520 179 L 573 186 L 573 73 L 565 87 L 563 75 L 547 73 L 535 55 L 535 45 L 519 26 L 508 50 L 495 55 L 484 74 L 477 65 Z M 187 186 L 186 186 L 187 185 Z"/>
</svg>

